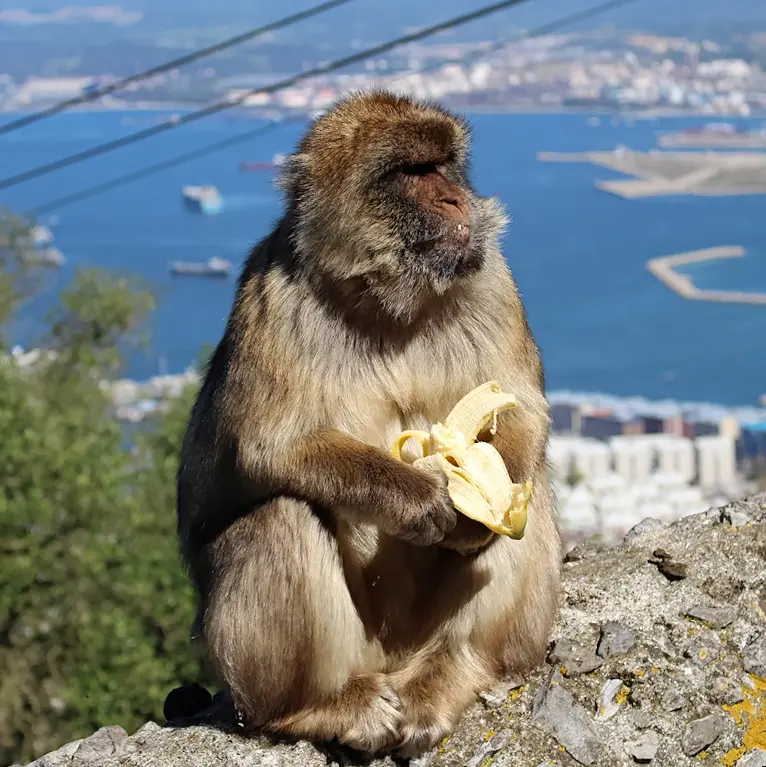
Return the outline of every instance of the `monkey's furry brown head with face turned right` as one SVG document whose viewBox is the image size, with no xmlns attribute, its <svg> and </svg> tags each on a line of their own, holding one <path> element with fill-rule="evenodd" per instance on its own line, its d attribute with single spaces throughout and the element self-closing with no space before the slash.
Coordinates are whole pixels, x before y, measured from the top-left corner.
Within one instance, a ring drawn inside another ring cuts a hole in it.
<svg viewBox="0 0 766 767">
<path fill-rule="evenodd" d="M 505 224 L 468 179 L 467 123 L 391 93 L 354 94 L 311 126 L 283 186 L 304 264 L 407 319 L 479 271 Z"/>
</svg>

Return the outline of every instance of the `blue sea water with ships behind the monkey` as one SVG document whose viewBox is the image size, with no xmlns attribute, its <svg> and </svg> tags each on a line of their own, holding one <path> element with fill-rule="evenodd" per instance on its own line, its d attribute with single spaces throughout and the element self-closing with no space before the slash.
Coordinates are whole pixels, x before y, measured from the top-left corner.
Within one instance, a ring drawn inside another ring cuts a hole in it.
<svg viewBox="0 0 766 767">
<path fill-rule="evenodd" d="M 163 112 L 57 115 L 0 136 L 0 176 L 21 172 L 167 117 Z M 646 269 L 647 259 L 715 245 L 742 245 L 743 259 L 686 268 L 702 288 L 766 291 L 766 196 L 623 200 L 594 187 L 620 174 L 587 163 L 538 162 L 536 152 L 646 150 L 656 135 L 704 118 L 637 120 L 602 115 L 475 114 L 474 179 L 512 218 L 508 263 L 542 348 L 551 389 L 643 395 L 730 405 L 766 392 L 766 306 L 692 302 Z M 2 119 L 8 119 L 3 116 Z M 617 124 L 615 124 L 617 122 Z M 748 121 L 740 121 L 747 124 Z M 750 121 L 753 126 L 761 120 Z M 25 211 L 54 198 L 251 130 L 250 120 L 211 117 L 0 191 L 0 205 Z M 18 340 L 41 330 L 57 290 L 78 266 L 117 267 L 159 291 L 153 341 L 127 373 L 180 372 L 204 343 L 215 343 L 231 304 L 228 280 L 172 278 L 174 259 L 228 258 L 237 269 L 275 223 L 280 197 L 271 174 L 243 173 L 240 160 L 267 160 L 294 148 L 302 124 L 286 124 L 249 143 L 163 171 L 42 217 L 67 264 L 26 307 Z M 224 212 L 186 211 L 184 184 L 215 184 Z"/>
</svg>

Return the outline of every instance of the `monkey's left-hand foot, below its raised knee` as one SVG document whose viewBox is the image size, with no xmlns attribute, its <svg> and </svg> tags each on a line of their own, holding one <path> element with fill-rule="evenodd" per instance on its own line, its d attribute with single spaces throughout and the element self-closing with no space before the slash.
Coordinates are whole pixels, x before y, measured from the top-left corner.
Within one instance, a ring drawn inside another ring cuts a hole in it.
<svg viewBox="0 0 766 767">
<path fill-rule="evenodd" d="M 401 738 L 402 704 L 384 674 L 351 678 L 338 697 L 280 722 L 278 729 L 309 740 L 337 739 L 367 754 L 392 749 Z"/>
</svg>

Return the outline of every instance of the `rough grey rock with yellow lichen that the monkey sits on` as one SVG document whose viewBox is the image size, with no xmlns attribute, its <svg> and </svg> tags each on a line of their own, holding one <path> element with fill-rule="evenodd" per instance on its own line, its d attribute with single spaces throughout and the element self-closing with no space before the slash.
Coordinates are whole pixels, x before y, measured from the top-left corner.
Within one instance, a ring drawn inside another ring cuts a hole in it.
<svg viewBox="0 0 766 767">
<path fill-rule="evenodd" d="M 581 544 L 549 660 L 489 690 L 412 767 L 766 767 L 766 496 Z M 106 727 L 34 767 L 327 767 L 308 743 Z M 394 767 L 390 758 L 369 767 Z"/>
</svg>

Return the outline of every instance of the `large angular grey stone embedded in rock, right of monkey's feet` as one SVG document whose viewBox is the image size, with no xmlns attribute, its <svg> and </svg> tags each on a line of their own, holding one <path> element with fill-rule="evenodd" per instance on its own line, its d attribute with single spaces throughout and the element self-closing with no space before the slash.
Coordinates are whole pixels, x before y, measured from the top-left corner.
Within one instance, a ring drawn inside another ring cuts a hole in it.
<svg viewBox="0 0 766 767">
<path fill-rule="evenodd" d="M 552 735 L 580 764 L 593 764 L 602 751 L 601 739 L 588 712 L 556 678 L 554 671 L 535 696 L 532 724 Z"/>
</svg>

